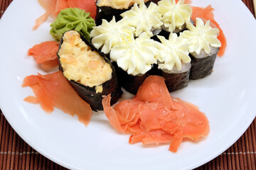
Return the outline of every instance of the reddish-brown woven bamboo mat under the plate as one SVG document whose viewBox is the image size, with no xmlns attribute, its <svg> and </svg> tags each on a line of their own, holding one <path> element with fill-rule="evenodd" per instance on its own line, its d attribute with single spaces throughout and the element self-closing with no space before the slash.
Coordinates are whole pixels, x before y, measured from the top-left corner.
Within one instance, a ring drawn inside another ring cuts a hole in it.
<svg viewBox="0 0 256 170">
<path fill-rule="evenodd" d="M 12 0 L 0 0 L 0 18 Z M 242 0 L 254 14 L 252 0 Z M 1 169 L 65 169 L 24 142 L 0 110 Z M 256 119 L 233 146 L 199 169 L 256 169 Z"/>
</svg>

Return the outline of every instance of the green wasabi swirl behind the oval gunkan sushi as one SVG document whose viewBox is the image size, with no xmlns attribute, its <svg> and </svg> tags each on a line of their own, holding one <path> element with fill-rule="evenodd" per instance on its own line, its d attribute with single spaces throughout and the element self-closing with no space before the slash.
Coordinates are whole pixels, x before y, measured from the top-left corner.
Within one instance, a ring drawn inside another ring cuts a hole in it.
<svg viewBox="0 0 256 170">
<path fill-rule="evenodd" d="M 89 40 L 92 27 L 95 26 L 94 19 L 89 16 L 90 13 L 80 8 L 65 8 L 60 11 L 55 21 L 50 24 L 50 35 L 55 40 L 60 40 L 66 31 L 77 30 Z"/>
</svg>

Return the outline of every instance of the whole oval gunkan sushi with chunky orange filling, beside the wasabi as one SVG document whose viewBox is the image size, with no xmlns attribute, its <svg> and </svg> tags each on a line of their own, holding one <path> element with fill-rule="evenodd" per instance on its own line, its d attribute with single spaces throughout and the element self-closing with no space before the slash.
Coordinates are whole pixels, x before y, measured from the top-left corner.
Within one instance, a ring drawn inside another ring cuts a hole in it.
<svg viewBox="0 0 256 170">
<path fill-rule="evenodd" d="M 57 55 L 65 78 L 93 111 L 102 111 L 102 96 L 111 93 L 112 104 L 122 96 L 110 61 L 77 31 L 63 34 Z"/>
</svg>

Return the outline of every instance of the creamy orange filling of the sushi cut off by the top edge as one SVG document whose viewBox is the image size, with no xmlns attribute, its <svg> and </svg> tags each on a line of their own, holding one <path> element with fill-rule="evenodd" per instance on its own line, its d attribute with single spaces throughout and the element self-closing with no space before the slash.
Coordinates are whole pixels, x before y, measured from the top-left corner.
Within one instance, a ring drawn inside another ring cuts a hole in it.
<svg viewBox="0 0 256 170">
<path fill-rule="evenodd" d="M 142 0 L 97 0 L 96 6 L 109 6 L 115 9 L 127 9 L 135 3 L 139 4 L 140 1 Z M 149 0 L 144 0 L 144 3 L 147 1 Z"/>
</svg>

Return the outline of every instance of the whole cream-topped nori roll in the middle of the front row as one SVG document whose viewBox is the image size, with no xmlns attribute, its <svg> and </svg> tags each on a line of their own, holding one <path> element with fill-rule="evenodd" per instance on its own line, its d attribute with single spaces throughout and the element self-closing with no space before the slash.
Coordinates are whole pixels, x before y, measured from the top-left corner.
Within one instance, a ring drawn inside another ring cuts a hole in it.
<svg viewBox="0 0 256 170">
<path fill-rule="evenodd" d="M 169 35 L 169 40 L 157 35 L 159 54 L 157 55 L 159 75 L 165 78 L 168 90 L 177 91 L 188 86 L 191 58 L 186 40 L 176 33 Z"/>
</svg>

